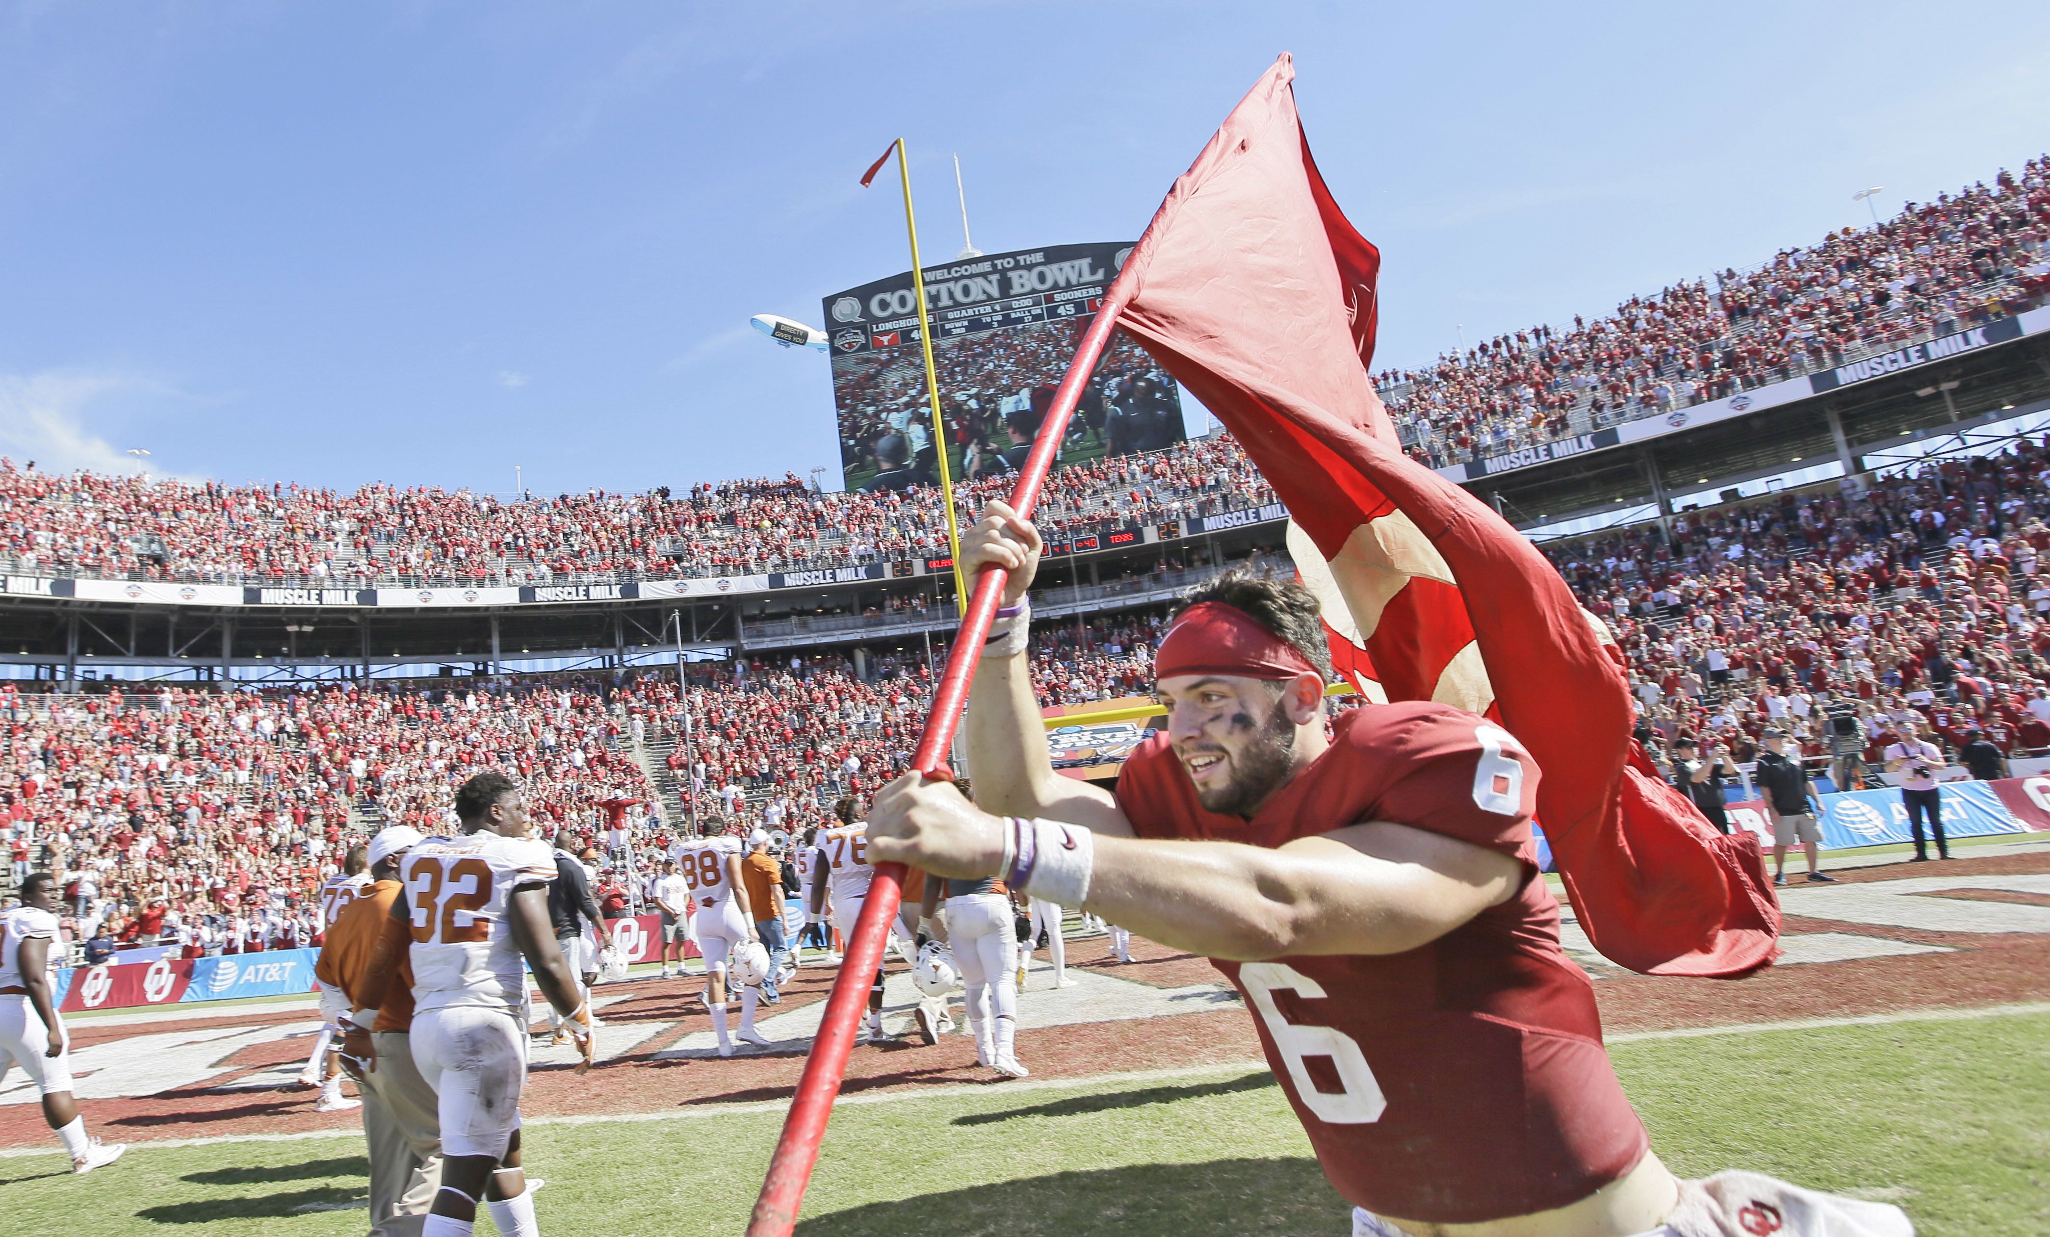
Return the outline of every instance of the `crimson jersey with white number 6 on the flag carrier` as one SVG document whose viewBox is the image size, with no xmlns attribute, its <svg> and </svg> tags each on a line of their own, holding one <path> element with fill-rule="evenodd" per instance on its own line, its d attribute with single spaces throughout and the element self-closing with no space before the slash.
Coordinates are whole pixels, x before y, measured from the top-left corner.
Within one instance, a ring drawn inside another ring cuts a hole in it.
<svg viewBox="0 0 2050 1237">
<path fill-rule="evenodd" d="M 1595 989 L 1558 946 L 1529 816 L 1537 767 L 1499 726 L 1427 702 L 1337 718 L 1337 739 L 1253 821 L 1205 812 L 1164 734 L 1125 761 L 1140 837 L 1279 847 L 1365 821 L 1525 864 L 1517 896 L 1388 956 L 1212 960 L 1355 1206 L 1476 1223 L 1564 1206 L 1630 1171 L 1644 1126 L 1601 1046 Z"/>
</svg>

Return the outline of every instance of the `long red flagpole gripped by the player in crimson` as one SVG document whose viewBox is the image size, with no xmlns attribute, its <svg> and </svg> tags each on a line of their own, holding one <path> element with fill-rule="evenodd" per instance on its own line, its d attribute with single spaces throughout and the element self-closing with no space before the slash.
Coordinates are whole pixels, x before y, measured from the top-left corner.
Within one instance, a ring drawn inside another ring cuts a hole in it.
<svg viewBox="0 0 2050 1237">
<path fill-rule="evenodd" d="M 1054 392 L 1054 406 L 1039 425 L 1025 468 L 1019 470 L 1019 484 L 1011 490 L 1011 509 L 1019 517 L 1029 517 L 1039 503 L 1039 484 L 1054 468 L 1054 455 L 1068 433 L 1068 418 L 1082 398 L 1097 359 L 1109 345 L 1117 314 L 1130 300 L 1128 277 L 1138 269 L 1134 248 L 1123 271 L 1103 297 L 1103 308 L 1082 334 L 1068 375 Z M 925 734 L 912 755 L 912 769 L 925 777 L 951 780 L 947 749 L 953 747 L 953 730 L 968 706 L 968 687 L 976 677 L 976 659 L 982 656 L 982 642 L 990 638 L 990 622 L 996 617 L 996 603 L 1004 593 L 1004 572 L 986 568 L 976 576 L 976 591 L 961 615 L 961 630 L 947 652 L 947 671 L 933 691 L 933 714 L 925 720 Z M 896 919 L 898 901 L 904 892 L 904 864 L 877 864 L 875 880 L 861 907 L 861 921 L 847 942 L 847 956 L 840 974 L 832 981 L 832 995 L 826 997 L 826 1015 L 812 1040 L 812 1054 L 804 1063 L 804 1077 L 797 1079 L 797 1093 L 791 1098 L 789 1116 L 783 1118 L 783 1136 L 777 1139 L 775 1159 L 769 1161 L 769 1180 L 754 1200 L 754 1219 L 748 1221 L 748 1237 L 787 1237 L 797 1225 L 797 1206 L 804 1202 L 804 1188 L 812 1180 L 812 1165 L 818 1163 L 818 1143 L 826 1134 L 826 1118 L 832 1114 L 832 1100 L 840 1093 L 840 1075 L 847 1071 L 847 1054 L 855 1048 L 855 1028 L 867 1009 L 869 985 L 875 968 L 881 966 L 884 942 L 890 935 L 890 921 Z"/>
</svg>

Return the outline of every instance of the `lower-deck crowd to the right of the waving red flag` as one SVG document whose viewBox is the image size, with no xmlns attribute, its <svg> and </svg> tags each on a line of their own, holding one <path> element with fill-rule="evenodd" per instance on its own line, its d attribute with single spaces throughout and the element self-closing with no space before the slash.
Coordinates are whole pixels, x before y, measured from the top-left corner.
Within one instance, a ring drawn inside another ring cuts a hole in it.
<svg viewBox="0 0 2050 1237">
<path fill-rule="evenodd" d="M 1654 755 L 1779 728 L 1839 786 L 1923 724 L 2050 749 L 2050 439 L 1868 490 L 1783 492 L 1546 552 L 1613 630 Z M 1656 741 L 1652 741 L 1656 739 Z M 1847 757 L 1855 765 L 1847 765 Z"/>
</svg>

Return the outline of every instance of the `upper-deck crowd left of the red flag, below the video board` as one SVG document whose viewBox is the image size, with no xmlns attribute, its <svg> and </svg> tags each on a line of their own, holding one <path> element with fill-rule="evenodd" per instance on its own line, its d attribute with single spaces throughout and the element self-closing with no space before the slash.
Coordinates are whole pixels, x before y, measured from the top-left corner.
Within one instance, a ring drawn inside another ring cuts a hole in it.
<svg viewBox="0 0 2050 1237">
<path fill-rule="evenodd" d="M 963 511 L 1009 478 L 957 486 Z M 1048 484 L 1048 535 L 1271 503 L 1228 439 L 1076 464 Z M 945 554 L 939 490 L 818 492 L 799 478 L 683 496 L 191 484 L 0 460 L 0 568 L 16 574 L 310 587 L 679 578 Z"/>
</svg>

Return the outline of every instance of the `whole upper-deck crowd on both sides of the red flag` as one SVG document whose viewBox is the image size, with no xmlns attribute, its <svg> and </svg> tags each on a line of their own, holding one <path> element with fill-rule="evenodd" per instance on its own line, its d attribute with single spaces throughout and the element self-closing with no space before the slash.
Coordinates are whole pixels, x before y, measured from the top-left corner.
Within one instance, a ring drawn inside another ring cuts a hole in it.
<svg viewBox="0 0 2050 1237">
<path fill-rule="evenodd" d="M 2019 314 L 2050 291 L 2050 183 L 2032 160 L 1876 228 L 1632 297 L 1572 332 L 1505 334 L 1380 375 L 1414 457 L 1447 466 L 1788 380 L 1917 332 Z M 961 488 L 963 507 L 1004 478 Z M 1064 468 L 1050 535 L 1257 509 L 1228 439 Z M 945 552 L 931 488 L 808 490 L 795 476 L 502 501 L 441 488 L 187 484 L 0 462 L 0 570 L 211 585 L 480 587 L 826 570 Z"/>
</svg>

